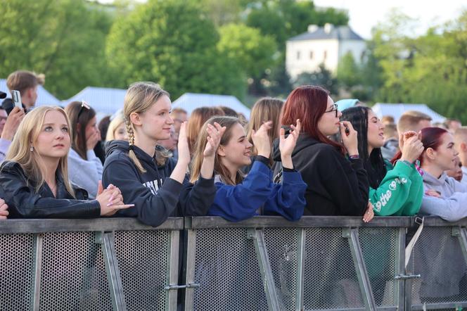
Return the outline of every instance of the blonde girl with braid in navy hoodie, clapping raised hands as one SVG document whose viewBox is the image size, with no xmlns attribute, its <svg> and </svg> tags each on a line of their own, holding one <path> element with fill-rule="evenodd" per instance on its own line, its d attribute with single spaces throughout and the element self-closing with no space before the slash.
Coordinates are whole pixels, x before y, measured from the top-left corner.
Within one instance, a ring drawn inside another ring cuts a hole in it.
<svg viewBox="0 0 467 311">
<path fill-rule="evenodd" d="M 104 185 L 115 184 L 135 205 L 119 215 L 136 217 L 154 227 L 169 216 L 206 215 L 216 193 L 212 176 L 215 150 L 225 130 L 218 124 L 205 129 L 200 176 L 192 184 L 185 176 L 190 163 L 186 122 L 180 128 L 177 163 L 157 145 L 170 137 L 174 124 L 170 106 L 169 94 L 158 84 L 130 85 L 123 107 L 129 141 L 110 141 L 103 170 Z"/>
</svg>

